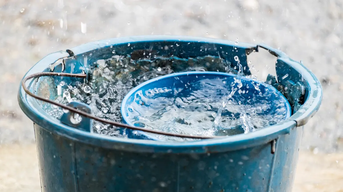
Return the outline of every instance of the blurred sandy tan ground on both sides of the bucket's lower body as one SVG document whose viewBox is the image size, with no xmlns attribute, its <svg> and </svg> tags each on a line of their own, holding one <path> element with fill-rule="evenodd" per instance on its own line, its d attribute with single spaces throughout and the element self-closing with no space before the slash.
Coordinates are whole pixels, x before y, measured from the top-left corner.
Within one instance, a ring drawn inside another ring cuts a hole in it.
<svg viewBox="0 0 343 192">
<path fill-rule="evenodd" d="M 36 146 L 0 145 L 0 191 L 40 191 Z M 300 152 L 293 192 L 342 192 L 343 153 Z"/>
</svg>

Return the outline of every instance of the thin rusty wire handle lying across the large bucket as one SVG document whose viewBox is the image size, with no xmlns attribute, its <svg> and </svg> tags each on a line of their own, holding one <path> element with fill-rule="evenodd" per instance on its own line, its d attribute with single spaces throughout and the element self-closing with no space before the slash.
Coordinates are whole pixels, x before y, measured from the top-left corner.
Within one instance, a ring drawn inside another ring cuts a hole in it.
<svg viewBox="0 0 343 192">
<path fill-rule="evenodd" d="M 86 78 L 86 74 L 73 74 L 73 73 L 56 73 L 56 72 L 40 72 L 40 73 L 34 73 L 32 75 L 29 75 L 27 77 L 25 77 L 22 81 L 21 81 L 21 86 L 23 87 L 24 91 L 26 92 L 26 94 L 30 95 L 31 97 L 34 97 L 38 100 L 41 101 L 45 101 L 48 102 L 52 105 L 56 105 L 58 107 L 61 107 L 63 109 L 67 109 L 69 111 L 72 111 L 73 113 L 78 113 L 82 116 L 85 116 L 87 118 L 102 122 L 102 123 L 107 123 L 107 124 L 111 124 L 114 126 L 118 126 L 118 127 L 123 127 L 123 128 L 128 128 L 128 129 L 133 129 L 133 130 L 138 130 L 138 131 L 144 131 L 144 132 L 149 132 L 149 133 L 154 133 L 154 134 L 158 134 L 158 135 L 167 135 L 167 136 L 172 136 L 172 137 L 181 137 L 181 138 L 192 138 L 192 139 L 211 139 L 211 138 L 222 138 L 224 136 L 194 136 L 194 135 L 184 135 L 184 134 L 174 134 L 174 133 L 167 133 L 167 132 L 162 132 L 162 131 L 155 131 L 155 130 L 151 130 L 151 129 L 145 129 L 145 128 L 141 128 L 141 127 L 135 127 L 135 126 L 131 126 L 131 125 L 127 125 L 127 124 L 123 124 L 123 123 L 118 123 L 118 122 L 113 122 L 113 121 L 109 121 L 106 119 L 102 119 L 102 118 L 98 118 L 96 116 L 93 116 L 89 113 L 77 110 L 73 107 L 70 106 L 66 106 L 63 104 L 60 104 L 58 102 L 46 99 L 44 97 L 40 97 L 37 96 L 33 93 L 31 93 L 28 88 L 25 85 L 25 82 L 29 79 L 35 78 L 35 77 L 41 77 L 41 76 L 60 76 L 60 77 L 74 77 L 74 78 Z"/>
</svg>

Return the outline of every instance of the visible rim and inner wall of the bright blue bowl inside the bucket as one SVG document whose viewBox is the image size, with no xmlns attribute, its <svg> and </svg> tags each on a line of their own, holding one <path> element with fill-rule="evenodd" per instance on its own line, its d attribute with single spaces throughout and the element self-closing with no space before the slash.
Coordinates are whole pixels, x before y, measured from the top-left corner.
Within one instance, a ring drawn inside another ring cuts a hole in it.
<svg viewBox="0 0 343 192">
<path fill-rule="evenodd" d="M 172 73 L 169 75 L 161 76 L 158 78 L 151 79 L 146 81 L 136 87 L 134 87 L 123 99 L 121 104 L 121 114 L 123 117 L 123 122 L 127 123 L 132 126 L 140 126 L 139 123 L 134 123 L 132 118 L 130 119 L 129 113 L 135 112 L 130 111 L 130 106 L 136 102 L 136 107 L 144 107 L 145 109 L 149 110 L 149 107 L 153 105 L 153 99 L 156 97 L 166 97 L 166 98 L 173 98 L 175 97 L 174 92 L 180 88 L 183 91 L 187 90 L 187 86 L 191 83 L 200 81 L 200 80 L 214 80 L 214 79 L 225 79 L 226 84 L 229 85 L 235 81 L 235 74 L 223 73 L 223 72 L 212 72 L 212 71 L 189 71 L 189 72 L 180 72 L 180 73 Z M 244 98 L 253 98 L 258 95 L 260 92 L 263 94 L 268 91 L 271 96 L 268 100 L 281 100 L 285 105 L 286 115 L 285 119 L 291 116 L 291 106 L 289 105 L 287 99 L 276 90 L 275 87 L 265 84 L 260 81 L 255 81 L 252 79 L 248 79 L 244 76 L 241 77 L 241 83 L 244 85 L 240 88 L 241 91 L 246 91 L 247 93 L 242 94 Z M 259 91 L 255 88 L 258 86 Z M 158 91 L 161 90 L 161 91 Z M 169 91 L 168 91 L 169 90 Z M 189 91 L 189 90 L 188 90 Z M 146 97 L 149 98 L 150 102 L 142 102 L 140 99 L 135 99 L 137 97 Z M 141 103 L 139 103 L 141 102 Z M 276 105 L 271 106 L 269 110 L 276 110 Z M 268 111 L 268 110 L 267 110 Z M 159 140 L 153 134 L 142 132 L 142 131 L 133 131 L 126 129 L 126 134 L 129 138 L 138 138 L 138 139 L 151 139 L 151 140 Z M 237 133 L 236 133 L 237 134 Z"/>
</svg>

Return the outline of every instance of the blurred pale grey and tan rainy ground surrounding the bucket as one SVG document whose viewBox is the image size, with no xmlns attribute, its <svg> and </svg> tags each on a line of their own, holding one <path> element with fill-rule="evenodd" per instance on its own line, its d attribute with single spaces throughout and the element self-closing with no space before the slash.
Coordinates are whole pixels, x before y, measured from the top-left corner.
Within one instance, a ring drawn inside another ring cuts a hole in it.
<svg viewBox="0 0 343 192">
<path fill-rule="evenodd" d="M 293 191 L 343 191 L 341 0 L 0 0 L 0 191 L 40 191 L 33 123 L 17 104 L 26 71 L 49 53 L 132 35 L 238 39 L 302 60 L 324 97 L 305 126 Z M 260 80 L 273 72 L 267 51 L 248 59 Z"/>
</svg>

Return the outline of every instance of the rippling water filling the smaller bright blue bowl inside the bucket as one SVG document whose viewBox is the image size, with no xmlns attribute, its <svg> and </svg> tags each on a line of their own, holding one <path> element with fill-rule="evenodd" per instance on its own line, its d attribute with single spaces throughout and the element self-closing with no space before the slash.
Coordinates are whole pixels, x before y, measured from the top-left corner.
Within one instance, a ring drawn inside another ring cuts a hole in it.
<svg viewBox="0 0 343 192">
<path fill-rule="evenodd" d="M 134 88 L 124 98 L 122 113 L 126 122 L 148 129 L 229 136 L 286 119 L 287 101 L 275 91 L 261 82 L 226 73 L 174 73 Z"/>
</svg>

